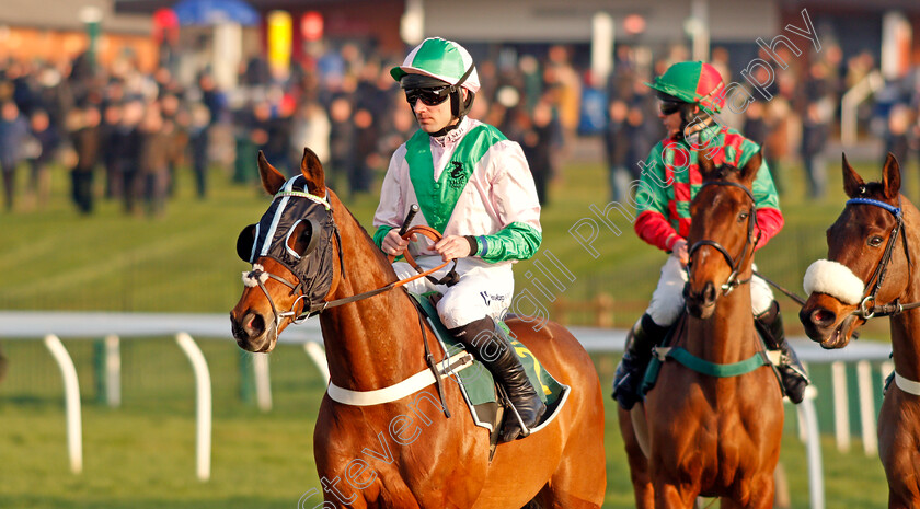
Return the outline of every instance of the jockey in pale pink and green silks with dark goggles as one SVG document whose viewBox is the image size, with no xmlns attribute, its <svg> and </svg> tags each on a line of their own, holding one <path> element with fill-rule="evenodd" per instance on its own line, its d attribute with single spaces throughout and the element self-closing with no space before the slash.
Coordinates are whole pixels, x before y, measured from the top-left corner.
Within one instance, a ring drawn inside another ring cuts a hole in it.
<svg viewBox="0 0 920 509">
<path fill-rule="evenodd" d="M 545 405 L 496 321 L 511 302 L 513 264 L 533 256 L 542 240 L 533 177 L 518 143 L 467 117 L 480 81 L 462 46 L 427 38 L 390 74 L 400 82 L 421 129 L 390 159 L 373 216 L 373 242 L 387 255 L 409 247 L 424 269 L 457 259 L 456 284 L 421 278 L 406 287 L 444 294 L 437 304 L 441 322 L 502 382 L 520 415 L 524 426 L 516 418 L 507 420 L 504 440 L 525 437 Z M 440 232 L 444 238 L 437 243 L 413 235 L 410 244 L 399 235 L 414 204 L 422 213 L 413 224 Z M 415 274 L 405 262 L 393 268 L 401 279 Z M 433 276 L 446 273 L 444 268 Z"/>
</svg>

